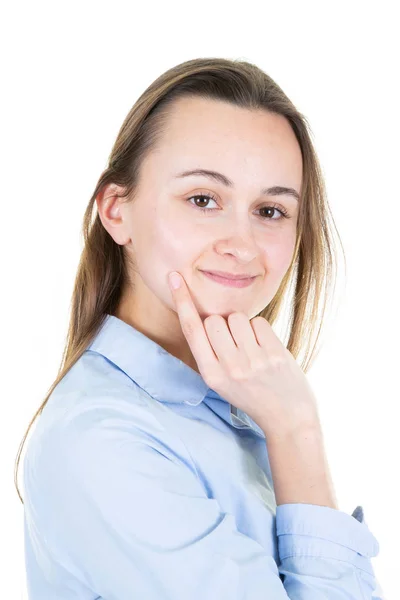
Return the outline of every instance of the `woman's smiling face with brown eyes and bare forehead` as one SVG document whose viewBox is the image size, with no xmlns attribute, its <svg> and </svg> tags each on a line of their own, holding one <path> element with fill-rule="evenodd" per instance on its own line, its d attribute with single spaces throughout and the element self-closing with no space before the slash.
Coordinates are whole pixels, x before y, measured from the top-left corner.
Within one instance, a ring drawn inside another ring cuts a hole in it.
<svg viewBox="0 0 400 600">
<path fill-rule="evenodd" d="M 221 175 L 179 176 L 194 169 Z M 290 266 L 299 212 L 293 195 L 262 190 L 284 186 L 300 195 L 301 178 L 300 147 L 283 117 L 220 101 L 179 99 L 162 143 L 142 163 L 135 200 L 119 205 L 124 245 L 136 267 L 129 299 L 135 322 L 176 319 L 170 271 L 184 276 L 203 320 L 259 313 Z M 111 235 L 116 231 L 107 229 Z M 202 270 L 257 277 L 248 287 L 225 287 Z"/>
</svg>

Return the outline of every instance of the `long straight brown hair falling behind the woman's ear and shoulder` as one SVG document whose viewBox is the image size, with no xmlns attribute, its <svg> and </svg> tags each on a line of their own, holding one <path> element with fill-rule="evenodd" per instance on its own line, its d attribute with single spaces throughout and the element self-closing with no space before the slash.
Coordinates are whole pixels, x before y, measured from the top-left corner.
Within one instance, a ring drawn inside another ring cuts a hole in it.
<svg viewBox="0 0 400 600">
<path fill-rule="evenodd" d="M 246 109 L 264 109 L 283 115 L 289 121 L 303 159 L 296 245 L 292 263 L 277 293 L 259 315 L 272 325 L 280 313 L 285 292 L 293 286 L 286 347 L 295 358 L 300 351 L 304 352 L 301 364 L 304 372 L 317 354 L 329 286 L 333 282 L 332 275 L 336 277 L 336 268 L 333 273 L 335 246 L 331 225 L 334 221 L 307 119 L 266 73 L 249 62 L 200 58 L 181 63 L 159 76 L 131 108 L 112 148 L 108 167 L 101 174 L 85 210 L 84 246 L 72 292 L 60 368 L 18 449 L 14 482 L 22 503 L 18 465 L 29 430 L 54 388 L 92 342 L 106 315 L 115 313 L 122 291 L 129 284 L 128 257 L 123 246 L 114 242 L 103 227 L 94 210 L 96 197 L 104 186 L 114 183 L 123 187 L 124 201 L 134 199 L 141 163 L 162 136 L 171 103 L 184 96 L 222 100 Z"/>
</svg>

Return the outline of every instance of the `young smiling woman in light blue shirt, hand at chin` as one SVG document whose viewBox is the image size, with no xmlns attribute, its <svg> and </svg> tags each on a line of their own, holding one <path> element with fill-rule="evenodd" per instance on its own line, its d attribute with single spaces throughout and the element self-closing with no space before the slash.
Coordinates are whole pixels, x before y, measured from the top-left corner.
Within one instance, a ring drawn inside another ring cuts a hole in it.
<svg viewBox="0 0 400 600">
<path fill-rule="evenodd" d="M 32 600 L 378 598 L 379 545 L 361 506 L 338 508 L 305 376 L 315 341 L 296 362 L 331 282 L 329 218 L 307 121 L 256 66 L 190 60 L 137 100 L 27 431 L 40 413 Z"/>
</svg>

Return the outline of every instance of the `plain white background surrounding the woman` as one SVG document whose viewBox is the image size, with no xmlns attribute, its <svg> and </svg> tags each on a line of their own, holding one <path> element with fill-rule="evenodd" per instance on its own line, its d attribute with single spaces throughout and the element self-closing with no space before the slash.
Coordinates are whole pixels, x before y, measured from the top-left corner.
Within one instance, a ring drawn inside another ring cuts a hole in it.
<svg viewBox="0 0 400 600">
<path fill-rule="evenodd" d="M 14 460 L 61 360 L 85 207 L 137 97 L 211 56 L 257 64 L 310 122 L 348 271 L 308 377 L 340 509 L 364 507 L 398 597 L 395 2 L 13 2 L 0 23 L 2 597 L 27 598 Z"/>
</svg>

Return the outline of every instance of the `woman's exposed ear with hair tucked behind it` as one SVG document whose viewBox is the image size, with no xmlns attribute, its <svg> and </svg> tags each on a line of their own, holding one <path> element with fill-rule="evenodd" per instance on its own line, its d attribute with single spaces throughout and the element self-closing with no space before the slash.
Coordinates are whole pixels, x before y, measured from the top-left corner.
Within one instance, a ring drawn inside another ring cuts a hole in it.
<svg viewBox="0 0 400 600">
<path fill-rule="evenodd" d="M 97 210 L 104 229 L 113 238 L 114 242 L 124 246 L 130 241 L 128 227 L 123 218 L 122 206 L 126 197 L 120 198 L 125 190 L 115 184 L 109 183 L 96 196 Z"/>
</svg>

